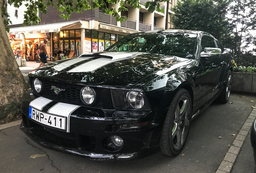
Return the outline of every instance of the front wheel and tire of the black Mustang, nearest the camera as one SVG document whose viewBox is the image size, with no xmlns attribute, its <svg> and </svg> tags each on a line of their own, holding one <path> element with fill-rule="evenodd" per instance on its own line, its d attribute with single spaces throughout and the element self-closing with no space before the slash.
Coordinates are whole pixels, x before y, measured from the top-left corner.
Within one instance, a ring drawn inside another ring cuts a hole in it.
<svg viewBox="0 0 256 173">
<path fill-rule="evenodd" d="M 178 155 L 188 138 L 191 118 L 191 99 L 187 90 L 180 89 L 169 106 L 160 141 L 164 155 Z"/>
</svg>

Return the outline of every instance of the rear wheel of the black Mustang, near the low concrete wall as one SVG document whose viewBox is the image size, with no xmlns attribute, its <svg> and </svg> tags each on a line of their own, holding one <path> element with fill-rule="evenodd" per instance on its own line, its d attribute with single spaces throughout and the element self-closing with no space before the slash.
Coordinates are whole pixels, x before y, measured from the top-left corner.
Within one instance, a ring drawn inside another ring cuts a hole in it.
<svg viewBox="0 0 256 173">
<path fill-rule="evenodd" d="M 224 83 L 224 87 L 218 98 L 220 103 L 227 103 L 229 101 L 230 92 L 231 92 L 231 83 L 232 83 L 232 71 L 229 70 L 226 81 Z"/>
</svg>

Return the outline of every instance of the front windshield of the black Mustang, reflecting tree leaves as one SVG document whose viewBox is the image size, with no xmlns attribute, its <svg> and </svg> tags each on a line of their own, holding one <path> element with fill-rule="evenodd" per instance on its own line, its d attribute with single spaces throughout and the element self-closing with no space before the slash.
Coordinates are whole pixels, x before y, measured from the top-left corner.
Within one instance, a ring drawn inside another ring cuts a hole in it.
<svg viewBox="0 0 256 173">
<path fill-rule="evenodd" d="M 150 52 L 192 58 L 196 43 L 196 34 L 132 34 L 128 35 L 106 51 Z"/>
</svg>

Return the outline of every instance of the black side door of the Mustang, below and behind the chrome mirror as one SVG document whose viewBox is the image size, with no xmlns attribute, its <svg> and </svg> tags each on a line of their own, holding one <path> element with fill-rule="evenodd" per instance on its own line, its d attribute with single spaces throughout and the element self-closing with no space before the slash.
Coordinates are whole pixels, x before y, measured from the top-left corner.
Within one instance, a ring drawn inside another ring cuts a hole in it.
<svg viewBox="0 0 256 173">
<path fill-rule="evenodd" d="M 219 48 L 215 38 L 209 35 L 202 35 L 200 42 L 200 63 L 204 72 L 201 74 L 202 84 L 202 99 L 206 103 L 212 97 L 214 97 L 221 89 L 221 79 L 223 73 L 223 60 L 221 53 L 219 54 L 208 54 L 208 56 L 201 56 L 201 53 L 205 53 L 205 48 Z"/>
</svg>

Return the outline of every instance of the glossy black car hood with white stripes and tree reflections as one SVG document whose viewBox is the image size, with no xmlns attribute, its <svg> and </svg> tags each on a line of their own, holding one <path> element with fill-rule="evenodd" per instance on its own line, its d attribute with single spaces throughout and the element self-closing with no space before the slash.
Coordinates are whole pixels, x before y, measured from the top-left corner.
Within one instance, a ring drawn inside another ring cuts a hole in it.
<svg viewBox="0 0 256 173">
<path fill-rule="evenodd" d="M 48 63 L 31 71 L 29 76 L 130 88 L 153 72 L 186 60 L 146 52 L 97 52 Z"/>
</svg>

